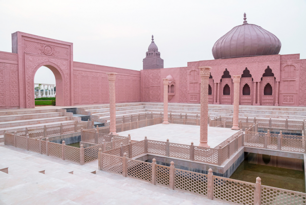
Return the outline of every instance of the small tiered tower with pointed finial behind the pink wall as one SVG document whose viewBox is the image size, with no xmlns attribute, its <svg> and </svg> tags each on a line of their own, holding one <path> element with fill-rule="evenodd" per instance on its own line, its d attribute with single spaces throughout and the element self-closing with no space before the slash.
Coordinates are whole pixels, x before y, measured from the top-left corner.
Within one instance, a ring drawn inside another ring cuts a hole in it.
<svg viewBox="0 0 306 205">
<path fill-rule="evenodd" d="M 146 52 L 146 57 L 143 58 L 142 62 L 143 70 L 164 68 L 164 60 L 160 58 L 160 52 L 158 52 L 158 48 L 154 43 L 153 35 L 148 52 Z"/>
</svg>

